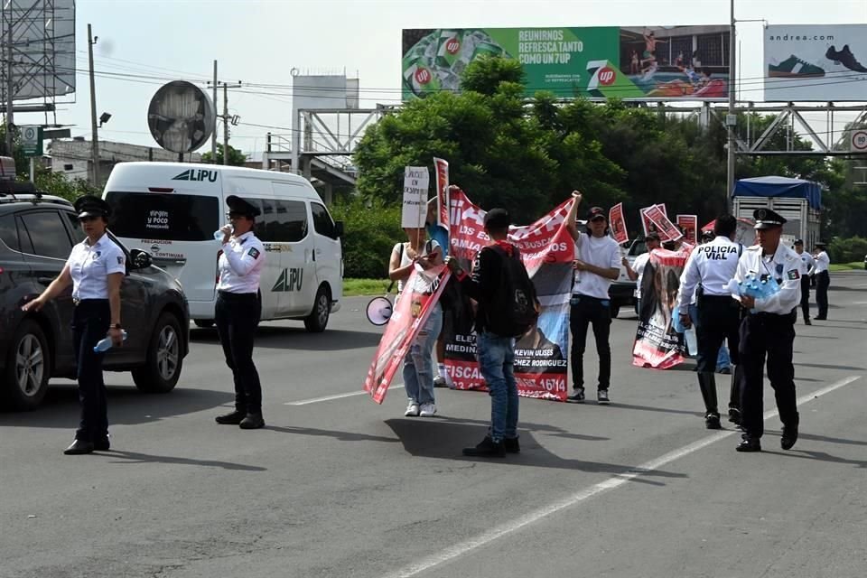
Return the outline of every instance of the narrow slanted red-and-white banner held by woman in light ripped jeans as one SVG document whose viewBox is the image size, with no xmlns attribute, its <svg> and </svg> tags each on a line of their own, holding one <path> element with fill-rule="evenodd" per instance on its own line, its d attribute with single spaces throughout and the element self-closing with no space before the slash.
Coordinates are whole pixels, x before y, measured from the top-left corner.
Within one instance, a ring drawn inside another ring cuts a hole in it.
<svg viewBox="0 0 867 578">
<path fill-rule="evenodd" d="M 451 275 L 449 269 L 441 265 L 426 271 L 414 269 L 406 279 L 404 291 L 395 303 L 364 380 L 364 390 L 378 404 L 386 398 L 391 380 L 403 365 L 409 347 L 431 316 L 433 304 L 443 294 Z"/>
</svg>

